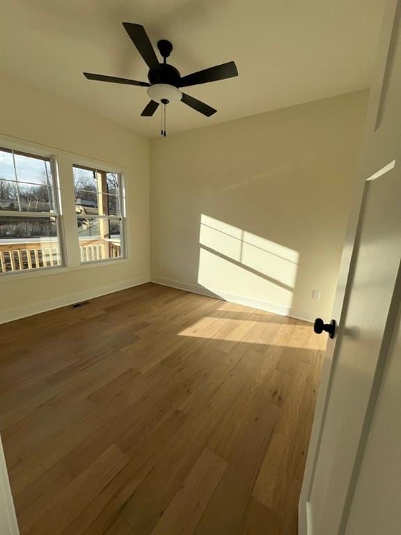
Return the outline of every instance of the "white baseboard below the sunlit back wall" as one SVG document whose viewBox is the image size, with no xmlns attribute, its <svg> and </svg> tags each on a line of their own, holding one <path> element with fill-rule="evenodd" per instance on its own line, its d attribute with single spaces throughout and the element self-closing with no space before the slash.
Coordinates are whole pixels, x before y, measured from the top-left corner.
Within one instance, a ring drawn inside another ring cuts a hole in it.
<svg viewBox="0 0 401 535">
<path fill-rule="evenodd" d="M 201 286 L 201 284 L 189 284 L 187 282 L 164 279 L 163 277 L 150 277 L 150 280 L 157 284 L 162 284 L 163 286 L 171 286 L 171 288 L 178 288 L 179 290 L 185 290 L 187 292 L 207 295 L 207 297 L 214 297 L 215 299 L 221 299 L 230 303 L 243 304 L 245 307 L 252 307 L 253 309 L 264 310 L 265 312 L 278 314 L 279 316 L 289 316 L 290 318 L 295 318 L 297 320 L 303 320 L 308 322 L 313 321 L 310 318 L 294 316 L 291 313 L 291 309 L 289 307 L 283 307 L 280 304 L 260 301 L 258 299 L 251 299 L 250 297 L 243 297 L 241 295 L 221 292 L 219 290 L 216 290 L 219 291 L 219 293 L 214 293 L 213 290 L 208 290 L 204 286 Z"/>
</svg>

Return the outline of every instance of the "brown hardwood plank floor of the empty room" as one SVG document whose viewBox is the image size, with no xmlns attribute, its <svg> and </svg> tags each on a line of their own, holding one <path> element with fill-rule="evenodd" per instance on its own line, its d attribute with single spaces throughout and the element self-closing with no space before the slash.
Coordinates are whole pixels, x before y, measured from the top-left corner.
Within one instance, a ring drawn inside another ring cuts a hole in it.
<svg viewBox="0 0 401 535">
<path fill-rule="evenodd" d="M 22 535 L 296 535 L 326 339 L 156 284 L 0 326 Z"/>
</svg>

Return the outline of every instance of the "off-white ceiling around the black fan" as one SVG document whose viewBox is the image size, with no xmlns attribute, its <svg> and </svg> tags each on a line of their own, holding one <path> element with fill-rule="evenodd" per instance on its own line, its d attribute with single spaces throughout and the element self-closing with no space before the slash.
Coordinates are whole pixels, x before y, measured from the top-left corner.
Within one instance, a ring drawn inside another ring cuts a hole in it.
<svg viewBox="0 0 401 535">
<path fill-rule="evenodd" d="M 147 81 L 122 22 L 153 45 L 173 42 L 181 75 L 234 60 L 239 77 L 187 88 L 217 108 L 206 118 L 177 102 L 168 133 L 222 123 L 370 85 L 383 0 L 2 0 L 3 69 L 146 137 L 146 88 L 90 82 L 83 71 Z"/>
</svg>

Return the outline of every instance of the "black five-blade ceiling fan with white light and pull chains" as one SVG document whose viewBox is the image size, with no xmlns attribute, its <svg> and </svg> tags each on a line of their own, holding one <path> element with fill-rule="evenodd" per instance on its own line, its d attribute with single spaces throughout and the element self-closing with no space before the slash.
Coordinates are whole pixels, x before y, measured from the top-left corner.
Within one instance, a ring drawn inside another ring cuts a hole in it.
<svg viewBox="0 0 401 535">
<path fill-rule="evenodd" d="M 152 116 L 159 104 L 162 104 L 162 135 L 166 136 L 166 104 L 169 102 L 181 100 L 187 106 L 199 111 L 201 114 L 210 117 L 215 114 L 217 109 L 212 108 L 205 102 L 183 93 L 180 88 L 206 84 L 207 82 L 217 82 L 226 78 L 238 76 L 237 67 L 234 61 L 216 65 L 204 70 L 198 70 L 191 75 L 181 77 L 180 72 L 168 65 L 166 59 L 173 50 L 173 45 L 166 39 L 157 42 L 157 48 L 163 58 L 163 63 L 159 63 L 155 50 L 152 47 L 148 35 L 141 24 L 132 24 L 123 22 L 123 26 L 134 45 L 141 54 L 143 60 L 149 67 L 149 82 L 138 82 L 127 78 L 117 78 L 113 76 L 95 75 L 91 72 L 84 72 L 84 76 L 89 80 L 98 80 L 99 82 L 113 82 L 115 84 L 127 84 L 130 86 L 148 87 L 150 102 L 143 109 L 141 116 Z M 163 114 L 164 111 L 164 114 Z"/>
</svg>

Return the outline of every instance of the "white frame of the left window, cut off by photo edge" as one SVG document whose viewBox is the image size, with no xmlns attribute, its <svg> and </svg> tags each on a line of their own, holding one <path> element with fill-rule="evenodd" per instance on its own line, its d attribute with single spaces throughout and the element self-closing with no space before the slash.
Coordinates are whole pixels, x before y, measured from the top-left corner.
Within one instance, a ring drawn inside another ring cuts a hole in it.
<svg viewBox="0 0 401 535">
<path fill-rule="evenodd" d="M 22 212 L 20 210 L 0 210 L 0 217 L 10 217 L 10 218 L 21 218 L 21 219 L 27 219 L 27 218 L 33 218 L 36 217 L 38 219 L 46 219 L 46 218 L 54 218 L 56 219 L 56 231 L 57 231 L 57 246 L 58 246 L 58 256 L 60 259 L 60 263 L 57 265 L 42 265 L 39 267 L 31 267 L 26 269 L 18 269 L 18 270 L 11 270 L 11 271 L 2 271 L 0 272 L 0 279 L 5 279 L 6 277 L 21 277 L 23 274 L 38 274 L 38 272 L 45 272 L 45 271 L 56 271 L 56 270 L 64 270 L 65 267 L 67 267 L 66 262 L 66 254 L 65 254 L 65 234 L 64 234 L 64 226 L 63 226 L 63 212 L 62 212 L 62 205 L 61 205 L 61 186 L 60 186 L 60 180 L 58 177 L 58 166 L 57 166 L 57 160 L 56 156 L 54 154 L 49 154 L 43 150 L 36 149 L 36 148 L 29 148 L 29 150 L 32 150 L 33 152 L 27 152 L 26 150 L 20 150 L 19 148 L 14 148 L 13 146 L 9 146 L 8 144 L 3 143 L 1 141 L 0 150 L 4 150 L 6 152 L 10 152 L 13 155 L 13 163 L 15 166 L 15 155 L 21 155 L 24 157 L 34 158 L 36 160 L 42 160 L 42 161 L 48 161 L 49 162 L 49 169 L 50 169 L 50 180 L 52 184 L 52 205 L 54 208 L 53 212 Z M 16 169 L 16 168 L 15 168 Z M 15 170 L 16 173 L 16 170 Z M 24 183 L 24 180 L 18 180 L 17 176 L 15 176 L 15 180 L 7 180 L 4 179 L 7 182 L 15 183 L 16 187 L 18 188 L 18 183 Z M 50 199 L 49 199 L 50 202 Z"/>
</svg>

